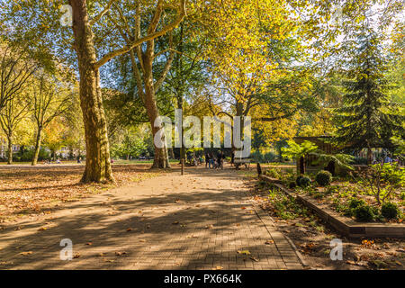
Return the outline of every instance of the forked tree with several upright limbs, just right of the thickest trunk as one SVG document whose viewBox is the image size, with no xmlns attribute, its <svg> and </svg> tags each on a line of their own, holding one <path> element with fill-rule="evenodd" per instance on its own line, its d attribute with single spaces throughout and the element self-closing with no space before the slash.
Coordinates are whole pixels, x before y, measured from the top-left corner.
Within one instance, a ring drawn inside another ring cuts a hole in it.
<svg viewBox="0 0 405 288">
<path fill-rule="evenodd" d="M 140 3 L 136 4 L 135 12 L 136 15 L 126 15 L 122 12 L 121 5 L 116 4 L 116 11 L 120 15 L 120 21 L 114 21 L 115 17 L 110 17 L 112 23 L 114 23 L 116 29 L 120 31 L 122 39 L 125 41 L 127 46 L 130 46 L 132 41 L 139 39 L 146 40 L 146 45 L 144 49 L 142 47 L 136 46 L 130 49 L 130 63 L 132 67 L 133 77 L 137 85 L 137 94 L 145 105 L 148 120 L 151 125 L 153 137 L 157 136 L 157 132 L 162 129 L 161 126 L 156 126 L 156 120 L 160 115 L 157 107 L 157 91 L 163 85 L 167 73 L 172 65 L 173 59 L 175 57 L 175 50 L 173 44 L 173 33 L 170 32 L 168 36 L 168 47 L 157 47 L 156 37 L 150 37 L 157 32 L 159 26 L 172 26 L 172 29 L 180 23 L 185 16 L 185 1 L 182 0 L 180 7 L 175 5 L 167 5 L 163 1 L 158 1 L 156 7 L 144 9 L 142 12 Z M 180 22 L 175 24 L 165 23 L 166 16 L 177 12 L 179 15 L 178 19 Z M 148 21 L 146 19 L 152 19 Z M 161 28 L 160 28 L 161 29 Z M 172 30 L 171 29 L 171 30 Z M 162 34 L 163 35 L 163 34 Z M 158 50 L 160 48 L 160 50 Z M 161 59 L 165 63 L 163 68 L 161 67 Z M 159 61 L 160 60 L 160 61 Z M 159 65 L 154 65 L 154 62 L 160 62 Z M 163 143 L 166 142 L 164 136 L 162 137 Z M 155 146 L 155 157 L 153 161 L 152 168 L 166 168 L 169 167 L 167 147 L 157 147 Z"/>
</svg>

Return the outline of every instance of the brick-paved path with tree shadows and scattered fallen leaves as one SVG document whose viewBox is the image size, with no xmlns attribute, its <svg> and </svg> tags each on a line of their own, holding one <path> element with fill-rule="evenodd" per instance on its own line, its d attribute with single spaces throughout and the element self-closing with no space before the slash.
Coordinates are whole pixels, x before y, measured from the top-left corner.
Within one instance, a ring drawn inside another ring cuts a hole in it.
<svg viewBox="0 0 405 288">
<path fill-rule="evenodd" d="M 0 269 L 302 269 L 247 193 L 236 171 L 201 167 L 90 196 L 0 230 Z"/>
</svg>

